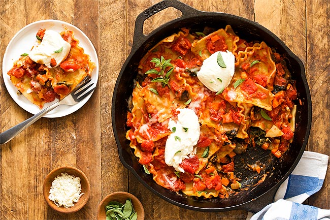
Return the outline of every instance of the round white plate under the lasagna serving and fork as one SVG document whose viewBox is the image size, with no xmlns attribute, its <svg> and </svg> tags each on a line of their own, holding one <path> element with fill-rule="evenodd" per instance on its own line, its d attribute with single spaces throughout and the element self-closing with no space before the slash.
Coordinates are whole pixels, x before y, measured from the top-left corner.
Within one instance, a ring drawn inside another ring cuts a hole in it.
<svg viewBox="0 0 330 220">
<path fill-rule="evenodd" d="M 59 20 L 41 20 L 41 21 L 36 21 L 34 23 L 30 23 L 27 26 L 20 29 L 19 32 L 9 42 L 3 59 L 3 77 L 7 90 L 10 96 L 13 98 L 13 100 L 21 108 L 32 114 L 37 114 L 38 112 L 41 111 L 41 109 L 37 105 L 32 104 L 30 101 L 28 101 L 23 95 L 17 96 L 16 94 L 17 88 L 10 81 L 10 77 L 7 73 L 10 69 L 12 69 L 14 65 L 14 61 L 16 61 L 22 53 L 29 53 L 32 46 L 36 43 L 36 34 L 40 28 L 52 29 L 55 30 L 55 32 L 60 33 L 63 30 L 65 30 L 64 27 L 73 30 L 75 38 L 79 40 L 79 46 L 84 48 L 84 52 L 88 54 L 90 56 L 91 61 L 95 63 L 96 67 L 92 72 L 91 79 L 95 85 L 97 83 L 97 78 L 98 78 L 97 54 L 92 42 L 79 28 L 77 28 L 72 24 Z M 91 95 L 92 94 L 90 94 L 83 101 L 73 106 L 60 105 L 57 108 L 53 109 L 52 111 L 48 112 L 44 117 L 55 118 L 55 117 L 62 117 L 71 114 L 77 111 L 79 108 L 81 108 L 88 101 Z M 56 101 L 57 100 L 55 100 L 54 102 Z M 43 109 L 47 108 L 54 102 L 45 103 Z"/>
</svg>

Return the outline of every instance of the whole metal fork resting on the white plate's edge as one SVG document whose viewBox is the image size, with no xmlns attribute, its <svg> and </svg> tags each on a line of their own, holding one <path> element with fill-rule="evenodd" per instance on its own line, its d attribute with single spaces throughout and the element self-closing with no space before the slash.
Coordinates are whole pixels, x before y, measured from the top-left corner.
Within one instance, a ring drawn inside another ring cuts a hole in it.
<svg viewBox="0 0 330 220">
<path fill-rule="evenodd" d="M 52 104 L 49 107 L 45 108 L 44 110 L 42 110 L 38 114 L 26 119 L 25 121 L 17 124 L 13 128 L 1 133 L 0 134 L 0 144 L 5 144 L 8 141 L 10 141 L 16 135 L 21 133 L 24 129 L 29 127 L 32 123 L 37 121 L 39 118 L 41 118 L 42 116 L 44 116 L 46 113 L 50 112 L 51 110 L 53 110 L 57 106 L 60 106 L 60 105 L 69 105 L 69 106 L 70 105 L 75 105 L 75 104 L 81 102 L 82 100 L 84 100 L 96 88 L 96 86 L 94 86 L 93 88 L 89 89 L 94 84 L 94 83 L 90 83 L 89 85 L 87 85 L 90 81 L 91 81 L 90 77 L 86 77 L 82 82 L 80 82 L 72 90 L 72 92 L 70 92 L 63 99 L 58 100 L 57 102 L 55 102 L 54 104 Z M 87 89 L 89 89 L 89 90 L 87 91 Z"/>
</svg>

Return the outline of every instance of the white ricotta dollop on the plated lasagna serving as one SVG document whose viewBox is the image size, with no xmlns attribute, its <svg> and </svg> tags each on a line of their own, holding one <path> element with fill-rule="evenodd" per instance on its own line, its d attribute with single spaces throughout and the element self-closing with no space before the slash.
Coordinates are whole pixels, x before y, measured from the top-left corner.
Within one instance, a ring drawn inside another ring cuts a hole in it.
<svg viewBox="0 0 330 220">
<path fill-rule="evenodd" d="M 28 56 L 38 64 L 44 64 L 48 68 L 53 68 L 50 65 L 51 58 L 56 61 L 57 67 L 67 58 L 71 49 L 71 45 L 64 41 L 61 35 L 54 30 L 46 30 L 42 42 L 34 46 Z"/>
</svg>

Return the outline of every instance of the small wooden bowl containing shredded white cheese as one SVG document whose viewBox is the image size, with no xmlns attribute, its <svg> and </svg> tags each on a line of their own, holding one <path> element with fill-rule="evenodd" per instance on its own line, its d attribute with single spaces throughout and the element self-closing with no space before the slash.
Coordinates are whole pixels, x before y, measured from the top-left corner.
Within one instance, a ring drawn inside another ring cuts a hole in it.
<svg viewBox="0 0 330 220">
<path fill-rule="evenodd" d="M 78 202 L 75 203 L 74 206 L 72 206 L 70 208 L 65 208 L 64 206 L 57 207 L 53 201 L 48 199 L 50 187 L 52 186 L 52 182 L 54 181 L 55 177 L 61 176 L 61 173 L 68 173 L 68 175 L 80 177 L 81 193 L 84 193 L 84 194 L 79 198 Z M 73 213 L 73 212 L 80 210 L 87 203 L 87 201 L 89 199 L 89 194 L 90 194 L 89 181 L 88 181 L 86 175 L 75 167 L 68 167 L 68 166 L 59 167 L 59 168 L 52 170 L 46 176 L 46 179 L 44 180 L 44 185 L 43 185 L 43 194 L 44 194 L 44 198 L 45 198 L 47 204 L 55 211 L 58 211 L 61 213 L 67 213 L 67 214 Z"/>
</svg>

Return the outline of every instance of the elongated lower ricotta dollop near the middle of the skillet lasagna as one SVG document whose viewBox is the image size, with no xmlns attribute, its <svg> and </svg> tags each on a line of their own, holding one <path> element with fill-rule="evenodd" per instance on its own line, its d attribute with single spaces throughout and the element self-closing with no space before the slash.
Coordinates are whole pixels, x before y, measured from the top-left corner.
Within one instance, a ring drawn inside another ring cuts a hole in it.
<svg viewBox="0 0 330 220">
<path fill-rule="evenodd" d="M 194 146 L 200 138 L 200 123 L 197 115 L 191 109 L 177 109 L 178 121 L 170 119 L 169 135 L 165 145 L 165 163 L 177 171 L 185 172 L 179 165 L 188 155 L 193 153 Z"/>
</svg>

